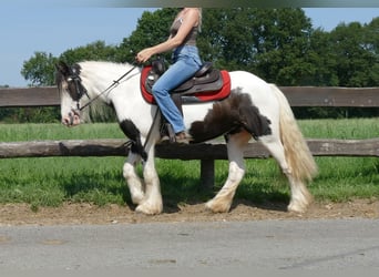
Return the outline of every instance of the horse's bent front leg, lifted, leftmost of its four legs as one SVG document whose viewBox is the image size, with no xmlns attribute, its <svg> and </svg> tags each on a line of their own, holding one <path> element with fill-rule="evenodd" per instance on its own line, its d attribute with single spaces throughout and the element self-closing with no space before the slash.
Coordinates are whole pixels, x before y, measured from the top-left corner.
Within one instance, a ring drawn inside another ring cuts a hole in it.
<svg viewBox="0 0 379 277">
<path fill-rule="evenodd" d="M 140 161 L 140 155 L 130 153 L 123 167 L 123 175 L 126 179 L 132 202 L 135 205 L 141 204 L 145 197 L 145 185 L 136 173 L 136 165 Z"/>
</svg>

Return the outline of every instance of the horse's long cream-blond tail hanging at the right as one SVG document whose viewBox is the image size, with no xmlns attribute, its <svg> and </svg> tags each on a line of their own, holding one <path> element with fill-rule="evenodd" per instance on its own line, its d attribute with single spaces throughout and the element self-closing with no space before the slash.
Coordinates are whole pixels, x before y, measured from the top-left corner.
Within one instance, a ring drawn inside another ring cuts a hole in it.
<svg viewBox="0 0 379 277">
<path fill-rule="evenodd" d="M 303 137 L 286 96 L 276 85 L 273 84 L 272 89 L 275 91 L 280 105 L 280 140 L 293 176 L 301 182 L 311 181 L 317 174 L 317 165 L 314 156 L 309 151 L 307 142 Z"/>
</svg>

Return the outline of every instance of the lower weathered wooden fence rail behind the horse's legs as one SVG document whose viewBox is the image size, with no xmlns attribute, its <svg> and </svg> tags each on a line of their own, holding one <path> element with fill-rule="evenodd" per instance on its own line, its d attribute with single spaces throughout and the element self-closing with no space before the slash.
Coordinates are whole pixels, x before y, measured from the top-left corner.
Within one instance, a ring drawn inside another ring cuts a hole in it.
<svg viewBox="0 0 379 277">
<path fill-rule="evenodd" d="M 377 156 L 379 138 L 370 140 L 307 140 L 315 156 Z M 0 158 L 47 156 L 126 156 L 125 140 L 66 140 L 0 143 Z M 171 160 L 227 160 L 224 143 L 158 144 L 156 156 Z M 259 143 L 249 143 L 244 151 L 247 158 L 266 158 L 269 153 Z"/>
</svg>

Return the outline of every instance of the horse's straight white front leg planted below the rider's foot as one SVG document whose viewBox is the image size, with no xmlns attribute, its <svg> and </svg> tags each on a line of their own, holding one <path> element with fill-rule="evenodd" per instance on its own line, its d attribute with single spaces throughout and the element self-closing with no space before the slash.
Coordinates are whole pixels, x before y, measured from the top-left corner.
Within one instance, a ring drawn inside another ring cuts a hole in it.
<svg viewBox="0 0 379 277">
<path fill-rule="evenodd" d="M 135 208 L 136 212 L 146 215 L 161 214 L 163 211 L 161 185 L 155 170 L 154 157 L 154 145 L 152 145 L 148 150 L 147 161 L 143 164 L 145 197 L 143 202 Z"/>
</svg>

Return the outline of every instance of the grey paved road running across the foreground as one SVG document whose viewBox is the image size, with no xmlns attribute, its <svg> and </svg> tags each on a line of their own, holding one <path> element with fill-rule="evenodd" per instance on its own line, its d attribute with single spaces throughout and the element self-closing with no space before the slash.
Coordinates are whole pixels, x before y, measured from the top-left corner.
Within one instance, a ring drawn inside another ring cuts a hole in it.
<svg viewBox="0 0 379 277">
<path fill-rule="evenodd" d="M 0 273 L 218 267 L 379 269 L 379 220 L 0 227 Z"/>
</svg>

